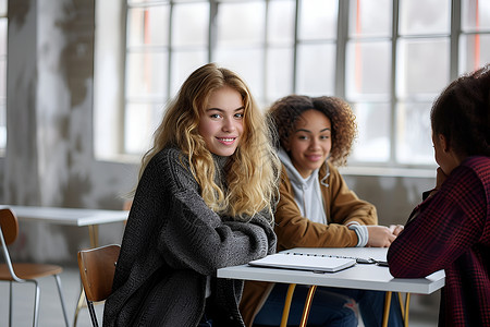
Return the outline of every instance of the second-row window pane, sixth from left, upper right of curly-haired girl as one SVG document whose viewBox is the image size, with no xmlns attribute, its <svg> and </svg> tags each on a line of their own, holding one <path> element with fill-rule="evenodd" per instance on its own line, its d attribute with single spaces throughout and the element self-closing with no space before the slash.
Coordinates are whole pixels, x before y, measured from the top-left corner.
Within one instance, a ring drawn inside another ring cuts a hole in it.
<svg viewBox="0 0 490 327">
<path fill-rule="evenodd" d="M 389 100 L 391 94 L 391 43 L 347 44 L 346 95 L 351 99 Z"/>
</svg>

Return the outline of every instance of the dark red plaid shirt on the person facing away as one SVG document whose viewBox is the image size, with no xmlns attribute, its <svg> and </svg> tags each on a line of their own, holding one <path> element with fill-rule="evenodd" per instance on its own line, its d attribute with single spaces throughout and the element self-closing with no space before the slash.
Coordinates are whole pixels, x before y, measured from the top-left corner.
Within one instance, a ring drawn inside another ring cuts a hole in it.
<svg viewBox="0 0 490 327">
<path fill-rule="evenodd" d="M 439 326 L 490 326 L 490 158 L 469 157 L 411 215 L 388 252 L 394 277 L 445 270 Z"/>
</svg>

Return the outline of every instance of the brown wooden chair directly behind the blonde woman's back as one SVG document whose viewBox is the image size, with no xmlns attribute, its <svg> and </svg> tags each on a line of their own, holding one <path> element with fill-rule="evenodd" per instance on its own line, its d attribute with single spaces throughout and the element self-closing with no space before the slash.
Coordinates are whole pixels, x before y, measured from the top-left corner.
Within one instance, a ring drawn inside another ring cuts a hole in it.
<svg viewBox="0 0 490 327">
<path fill-rule="evenodd" d="M 98 327 L 94 302 L 105 301 L 112 290 L 120 245 L 112 244 L 78 252 L 78 268 L 91 325 Z"/>
</svg>

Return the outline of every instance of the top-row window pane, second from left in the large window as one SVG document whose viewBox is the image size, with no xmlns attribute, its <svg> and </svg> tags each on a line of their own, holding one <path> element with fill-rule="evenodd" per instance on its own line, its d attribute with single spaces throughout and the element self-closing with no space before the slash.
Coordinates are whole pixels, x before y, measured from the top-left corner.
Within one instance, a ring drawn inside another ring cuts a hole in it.
<svg viewBox="0 0 490 327">
<path fill-rule="evenodd" d="M 175 4 L 172 16 L 172 46 L 206 46 L 208 44 L 209 4 Z"/>
</svg>

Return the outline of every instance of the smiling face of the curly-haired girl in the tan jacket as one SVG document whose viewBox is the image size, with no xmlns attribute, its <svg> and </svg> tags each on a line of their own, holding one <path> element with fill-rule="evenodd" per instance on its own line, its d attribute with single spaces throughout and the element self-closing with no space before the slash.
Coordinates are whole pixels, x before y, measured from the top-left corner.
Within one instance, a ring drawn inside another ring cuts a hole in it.
<svg viewBox="0 0 490 327">
<path fill-rule="evenodd" d="M 330 119 L 318 110 L 307 110 L 297 120 L 286 150 L 303 178 L 309 177 L 327 160 L 332 148 L 331 133 Z"/>
</svg>

